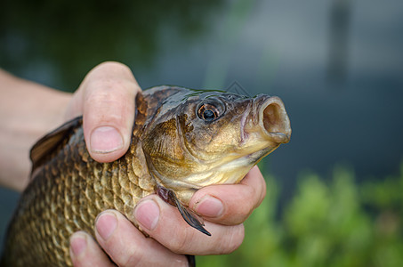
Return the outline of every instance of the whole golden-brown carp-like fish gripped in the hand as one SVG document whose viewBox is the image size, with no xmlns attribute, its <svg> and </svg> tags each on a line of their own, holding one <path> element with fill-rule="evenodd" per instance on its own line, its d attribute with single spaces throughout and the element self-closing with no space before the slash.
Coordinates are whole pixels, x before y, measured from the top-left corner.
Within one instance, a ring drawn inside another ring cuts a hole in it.
<svg viewBox="0 0 403 267">
<path fill-rule="evenodd" d="M 85 146 L 83 117 L 32 147 L 32 171 L 5 241 L 4 266 L 72 266 L 69 238 L 94 236 L 94 221 L 116 209 L 136 227 L 136 204 L 157 193 L 210 235 L 189 209 L 211 184 L 238 183 L 263 157 L 289 142 L 290 121 L 276 96 L 155 86 L 138 93 L 129 150 L 100 163 Z M 191 260 L 189 260 L 189 263 Z"/>
</svg>

